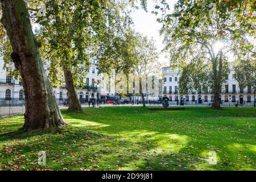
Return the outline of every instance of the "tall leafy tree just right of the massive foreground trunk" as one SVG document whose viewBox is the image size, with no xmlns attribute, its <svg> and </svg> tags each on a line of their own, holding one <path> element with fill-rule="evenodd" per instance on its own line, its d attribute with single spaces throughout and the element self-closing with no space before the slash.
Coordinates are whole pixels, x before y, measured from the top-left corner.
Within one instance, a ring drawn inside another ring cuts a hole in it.
<svg viewBox="0 0 256 182">
<path fill-rule="evenodd" d="M 68 90 L 69 110 L 81 110 L 75 88 L 82 85 L 90 57 L 98 42 L 106 39 L 106 31 L 126 22 L 126 2 L 123 1 L 60 1 L 46 3 L 47 18 L 36 20 L 40 34 L 47 40 L 51 71 L 63 67 Z M 97 56 L 97 52 L 96 52 Z M 55 77 L 55 74 L 51 76 Z"/>
</svg>

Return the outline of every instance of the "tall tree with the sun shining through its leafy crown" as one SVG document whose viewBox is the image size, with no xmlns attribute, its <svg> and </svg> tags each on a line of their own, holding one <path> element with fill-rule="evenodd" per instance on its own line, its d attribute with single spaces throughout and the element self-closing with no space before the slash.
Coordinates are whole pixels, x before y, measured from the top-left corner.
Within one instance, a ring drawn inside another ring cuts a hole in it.
<svg viewBox="0 0 256 182">
<path fill-rule="evenodd" d="M 162 13 L 158 21 L 163 23 L 161 33 L 171 64 L 183 72 L 179 82 L 192 80 L 190 85 L 185 84 L 187 88 L 184 84 L 179 87 L 186 93 L 209 86 L 214 94 L 212 107 L 220 108 L 219 95 L 229 73 L 231 55 L 237 45 L 248 43 L 243 40 L 255 34 L 255 2 L 179 0 L 174 13 L 168 11 L 165 0 L 155 7 L 155 14 Z"/>
</svg>

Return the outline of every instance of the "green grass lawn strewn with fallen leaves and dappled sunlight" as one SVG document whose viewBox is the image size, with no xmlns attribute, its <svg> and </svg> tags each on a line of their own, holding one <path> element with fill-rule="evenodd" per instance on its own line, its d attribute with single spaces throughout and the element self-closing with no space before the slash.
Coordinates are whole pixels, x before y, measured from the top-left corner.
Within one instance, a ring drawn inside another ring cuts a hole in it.
<svg viewBox="0 0 256 182">
<path fill-rule="evenodd" d="M 256 170 L 255 108 L 62 113 L 63 131 L 23 133 L 23 116 L 0 119 L 0 170 Z"/>
</svg>

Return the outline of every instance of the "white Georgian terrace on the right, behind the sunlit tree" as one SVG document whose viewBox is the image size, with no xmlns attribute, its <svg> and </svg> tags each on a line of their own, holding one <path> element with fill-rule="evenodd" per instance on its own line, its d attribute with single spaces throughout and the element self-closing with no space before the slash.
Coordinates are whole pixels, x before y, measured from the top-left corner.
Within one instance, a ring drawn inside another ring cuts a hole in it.
<svg viewBox="0 0 256 182">
<path fill-rule="evenodd" d="M 184 101 L 185 105 L 209 105 L 213 101 L 213 94 L 201 90 L 193 90 L 188 94 L 179 94 L 178 81 L 179 74 L 177 69 L 172 71 L 170 67 L 163 68 L 163 92 L 169 97 L 171 104 L 179 104 Z M 246 86 L 239 88 L 238 82 L 234 79 L 234 71 L 231 71 L 228 80 L 222 85 L 220 94 L 221 105 L 234 106 L 254 106 L 254 90 Z"/>
</svg>

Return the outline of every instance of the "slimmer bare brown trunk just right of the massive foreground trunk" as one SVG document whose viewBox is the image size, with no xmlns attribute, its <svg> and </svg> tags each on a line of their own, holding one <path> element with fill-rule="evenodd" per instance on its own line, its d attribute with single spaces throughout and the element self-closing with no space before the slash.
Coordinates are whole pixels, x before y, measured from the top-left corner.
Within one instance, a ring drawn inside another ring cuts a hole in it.
<svg viewBox="0 0 256 182">
<path fill-rule="evenodd" d="M 63 67 L 63 71 L 64 71 L 66 88 L 68 90 L 68 102 L 69 102 L 68 110 L 82 111 L 82 107 L 75 90 L 72 73 L 65 67 Z"/>
</svg>

